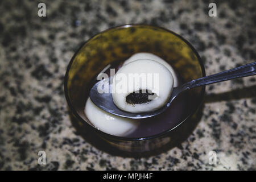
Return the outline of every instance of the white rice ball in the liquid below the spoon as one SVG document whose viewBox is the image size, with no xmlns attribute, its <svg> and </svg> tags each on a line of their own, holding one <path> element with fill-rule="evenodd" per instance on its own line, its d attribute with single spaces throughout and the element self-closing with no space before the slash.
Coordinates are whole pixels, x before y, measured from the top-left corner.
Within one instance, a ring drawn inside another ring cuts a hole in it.
<svg viewBox="0 0 256 182">
<path fill-rule="evenodd" d="M 118 137 L 131 134 L 139 125 L 139 122 L 134 119 L 118 117 L 100 109 L 90 98 L 86 101 L 84 112 L 97 129 Z"/>
</svg>

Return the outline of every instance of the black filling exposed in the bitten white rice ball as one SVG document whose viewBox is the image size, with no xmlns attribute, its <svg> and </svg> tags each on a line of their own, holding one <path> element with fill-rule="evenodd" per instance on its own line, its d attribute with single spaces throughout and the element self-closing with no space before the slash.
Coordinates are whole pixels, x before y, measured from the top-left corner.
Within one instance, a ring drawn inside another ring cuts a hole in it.
<svg viewBox="0 0 256 182">
<path fill-rule="evenodd" d="M 143 103 L 147 103 L 150 102 L 152 100 L 148 100 L 148 96 L 153 96 L 154 93 L 148 93 L 148 90 L 139 90 L 138 92 L 133 92 L 130 93 L 127 97 L 126 97 L 126 102 L 128 104 L 143 104 Z"/>
</svg>

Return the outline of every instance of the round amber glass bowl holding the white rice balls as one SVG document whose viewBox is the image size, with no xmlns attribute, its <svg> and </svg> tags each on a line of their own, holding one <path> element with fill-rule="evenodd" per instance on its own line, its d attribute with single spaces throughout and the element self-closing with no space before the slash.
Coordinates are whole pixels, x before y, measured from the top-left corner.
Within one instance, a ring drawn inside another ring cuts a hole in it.
<svg viewBox="0 0 256 182">
<path fill-rule="evenodd" d="M 189 90 L 188 112 L 172 129 L 143 138 L 116 137 L 94 128 L 84 113 L 85 102 L 92 85 L 90 82 L 108 64 L 125 61 L 138 52 L 150 52 L 166 60 L 184 82 L 204 77 L 199 54 L 180 35 L 161 27 L 127 24 L 100 32 L 85 42 L 72 57 L 65 74 L 64 90 L 72 114 L 94 133 L 124 151 L 148 151 L 167 144 L 168 134 L 191 118 L 203 100 L 205 87 Z M 84 131 L 86 132 L 86 131 Z"/>
</svg>

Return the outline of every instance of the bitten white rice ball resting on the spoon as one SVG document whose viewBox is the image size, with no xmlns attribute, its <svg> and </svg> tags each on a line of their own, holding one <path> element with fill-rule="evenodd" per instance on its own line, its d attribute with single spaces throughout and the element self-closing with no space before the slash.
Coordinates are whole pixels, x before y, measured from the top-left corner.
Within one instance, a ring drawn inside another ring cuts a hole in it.
<svg viewBox="0 0 256 182">
<path fill-rule="evenodd" d="M 121 110 L 131 113 L 153 111 L 166 104 L 173 86 L 174 78 L 163 64 L 140 59 L 123 65 L 115 74 L 112 97 L 114 104 Z M 126 97 L 139 90 L 148 90 L 148 92 L 155 93 L 156 97 L 154 100 L 150 98 L 150 101 L 141 104 L 127 103 Z"/>
</svg>

